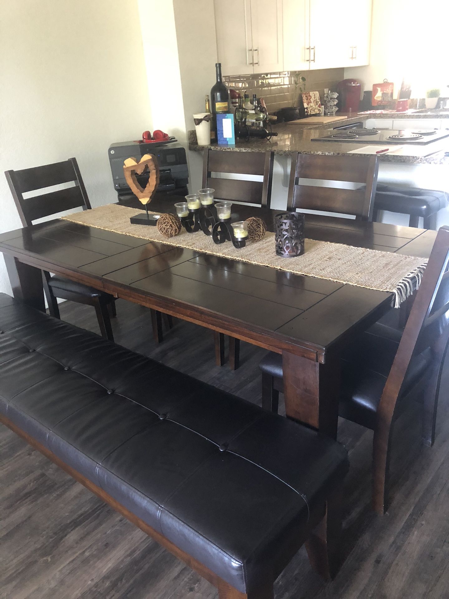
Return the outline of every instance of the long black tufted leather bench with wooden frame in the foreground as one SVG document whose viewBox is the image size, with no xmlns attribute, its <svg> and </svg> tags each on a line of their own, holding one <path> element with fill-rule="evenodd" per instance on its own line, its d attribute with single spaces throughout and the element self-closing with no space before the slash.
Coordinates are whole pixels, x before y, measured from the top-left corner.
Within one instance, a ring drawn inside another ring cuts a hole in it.
<svg viewBox="0 0 449 599">
<path fill-rule="evenodd" d="M 336 441 L 4 294 L 0 330 L 0 420 L 220 599 L 273 597 L 304 541 L 335 567 Z"/>
</svg>

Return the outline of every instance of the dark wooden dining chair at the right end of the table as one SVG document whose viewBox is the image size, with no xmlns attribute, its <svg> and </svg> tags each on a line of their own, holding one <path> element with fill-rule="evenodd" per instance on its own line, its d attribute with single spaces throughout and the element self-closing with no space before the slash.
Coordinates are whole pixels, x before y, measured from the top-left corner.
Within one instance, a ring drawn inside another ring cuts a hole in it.
<svg viewBox="0 0 449 599">
<path fill-rule="evenodd" d="M 393 424 L 411 400 L 422 403 L 423 443 L 435 441 L 436 411 L 449 341 L 449 227 L 439 229 L 404 331 L 376 323 L 341 360 L 339 415 L 374 431 L 372 503 L 387 507 Z M 262 404 L 277 412 L 282 358 L 260 362 Z"/>
</svg>

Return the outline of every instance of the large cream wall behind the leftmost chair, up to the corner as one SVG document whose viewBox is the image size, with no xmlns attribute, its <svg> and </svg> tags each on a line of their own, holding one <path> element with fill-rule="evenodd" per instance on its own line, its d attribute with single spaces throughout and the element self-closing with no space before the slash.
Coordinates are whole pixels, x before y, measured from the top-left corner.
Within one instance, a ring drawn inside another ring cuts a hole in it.
<svg viewBox="0 0 449 599">
<path fill-rule="evenodd" d="M 116 201 L 108 146 L 151 128 L 137 0 L 2 2 L 0 57 L 0 231 L 20 226 L 5 170 L 76 156 L 92 205 Z"/>
</svg>

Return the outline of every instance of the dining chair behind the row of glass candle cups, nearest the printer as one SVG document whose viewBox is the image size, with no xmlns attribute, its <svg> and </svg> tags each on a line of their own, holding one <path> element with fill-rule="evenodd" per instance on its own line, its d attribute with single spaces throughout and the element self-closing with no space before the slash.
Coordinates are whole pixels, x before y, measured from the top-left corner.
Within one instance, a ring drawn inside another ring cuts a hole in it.
<svg viewBox="0 0 449 599">
<path fill-rule="evenodd" d="M 274 152 L 224 152 L 204 150 L 202 186 L 214 189 L 214 199 L 270 207 Z M 261 181 L 225 179 L 216 174 L 262 177 Z M 214 332 L 217 366 L 225 363 L 225 335 Z M 229 337 L 229 365 L 239 367 L 240 340 Z"/>
</svg>

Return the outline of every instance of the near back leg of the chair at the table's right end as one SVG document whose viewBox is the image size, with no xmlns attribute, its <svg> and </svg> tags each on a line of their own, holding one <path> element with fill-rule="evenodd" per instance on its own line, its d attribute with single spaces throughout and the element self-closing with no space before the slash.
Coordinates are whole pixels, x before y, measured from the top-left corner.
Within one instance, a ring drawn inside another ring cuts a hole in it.
<svg viewBox="0 0 449 599">
<path fill-rule="evenodd" d="M 372 507 L 381 516 L 387 511 L 392 424 L 374 431 L 372 444 Z"/>
</svg>

